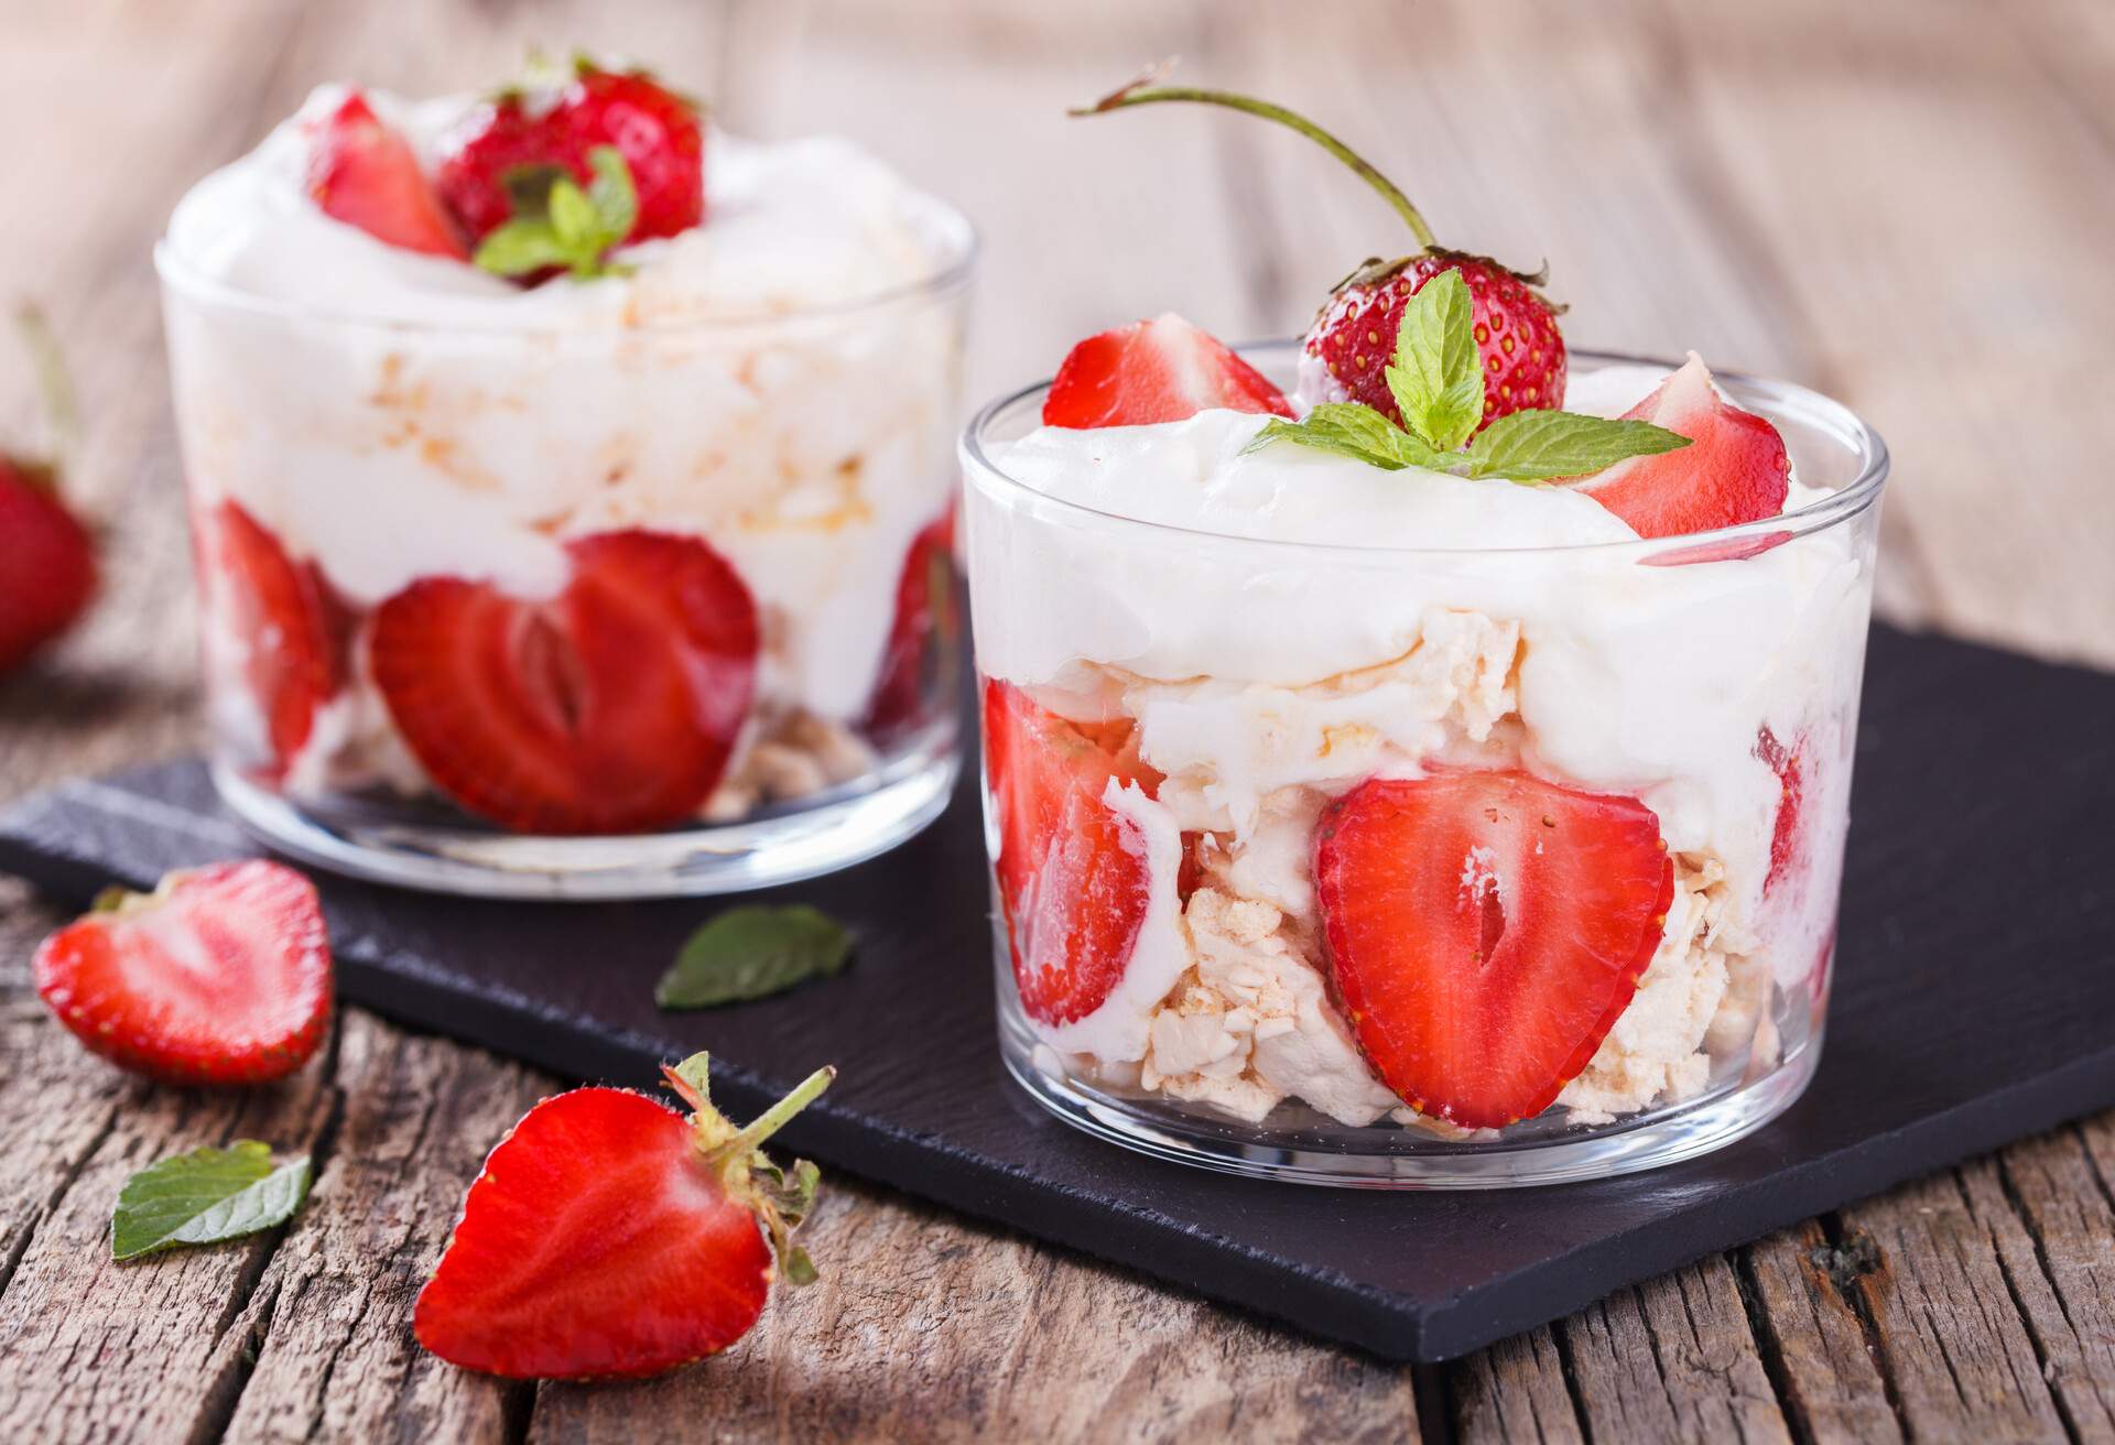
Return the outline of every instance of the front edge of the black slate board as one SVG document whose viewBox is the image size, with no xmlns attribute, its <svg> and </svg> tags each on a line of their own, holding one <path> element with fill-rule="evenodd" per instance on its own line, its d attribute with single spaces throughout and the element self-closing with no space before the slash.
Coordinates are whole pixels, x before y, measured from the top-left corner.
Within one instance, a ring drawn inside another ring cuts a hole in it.
<svg viewBox="0 0 2115 1445">
<path fill-rule="evenodd" d="M 17 874 L 55 897 L 85 901 L 110 882 L 110 865 L 87 855 L 61 855 L 49 842 L 32 844 L 19 836 L 30 829 L 36 815 L 57 802 L 61 800 L 53 793 L 36 793 L 0 815 L 0 872 Z M 70 802 L 93 806 L 78 793 Z M 152 882 L 118 876 L 137 886 Z M 338 954 L 341 996 L 351 1003 L 400 1024 L 522 1058 L 560 1077 L 607 1079 L 635 1087 L 651 1087 L 658 1081 L 664 1051 L 651 1039 L 624 1035 L 596 1039 L 569 1026 L 552 1009 L 537 1007 L 527 994 L 489 1001 L 491 1013 L 484 1018 L 486 1026 L 480 1026 L 474 1016 L 457 1007 L 444 984 L 368 958 L 360 944 L 362 939 L 353 939 Z M 996 1051 L 992 1073 L 1000 1087 L 1015 1090 L 1003 1079 Z M 715 1087 L 725 1092 L 736 1113 L 764 1109 L 787 1085 L 791 1079 L 774 1085 L 734 1060 L 715 1066 Z M 2081 1106 L 2081 1096 L 2092 1102 Z M 1390 1291 L 1337 1272 L 1288 1267 L 1284 1259 L 1258 1255 L 1159 1212 L 1129 1210 L 1132 1219 L 1144 1225 L 1136 1238 L 1121 1231 L 1102 1233 L 1072 1208 L 1060 1204 L 1053 1210 L 1051 1187 L 1026 1172 L 992 1166 L 941 1140 L 899 1130 L 886 1119 L 831 1109 L 827 1098 L 787 1130 L 787 1147 L 905 1193 L 1170 1280 L 1237 1310 L 1254 1310 L 1252 1299 L 1269 1297 L 1273 1303 L 1263 1310 L 1265 1314 L 1371 1350 L 1381 1358 L 1432 1362 L 1493 1343 L 1521 1329 L 1523 1318 L 1535 1322 L 1561 1318 L 1633 1280 L 1747 1244 L 1772 1229 L 2109 1104 L 2115 1104 L 2115 1043 L 2011 1090 L 1739 1185 L 1719 1200 L 1732 1202 L 1741 1223 L 1707 1233 L 1667 1223 L 1639 1227 L 1614 1240 L 1597 1240 L 1576 1257 L 1555 1257 L 1571 1259 L 1555 1284 L 1546 1269 L 1516 1272 L 1421 1316 L 1406 1312 L 1402 1297 Z M 1578 1187 L 1590 1185 L 1561 1189 Z M 1123 1206 L 1102 1200 L 1098 1208 Z M 1233 1288 L 1231 1278 L 1244 1282 L 1248 1293 Z"/>
</svg>

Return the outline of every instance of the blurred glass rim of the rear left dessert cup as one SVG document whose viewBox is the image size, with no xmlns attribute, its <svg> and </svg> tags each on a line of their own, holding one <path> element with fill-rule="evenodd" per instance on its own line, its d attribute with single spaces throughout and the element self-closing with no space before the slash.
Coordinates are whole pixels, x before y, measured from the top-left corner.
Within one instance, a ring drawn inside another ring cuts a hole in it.
<svg viewBox="0 0 2115 1445">
<path fill-rule="evenodd" d="M 641 322 L 611 319 L 607 326 L 577 326 L 571 319 L 560 319 L 560 317 L 552 317 L 550 322 L 520 324 L 520 322 L 501 322 L 501 319 L 486 322 L 470 317 L 427 322 L 417 317 L 374 315 L 370 311 L 334 307 L 328 303 L 266 296 L 262 292 L 254 292 L 233 281 L 207 275 L 192 260 L 184 258 L 167 235 L 161 235 L 154 241 L 152 256 L 154 256 L 154 275 L 161 277 L 161 283 L 165 288 L 184 294 L 186 298 L 192 300 L 205 300 L 218 307 L 247 311 L 252 315 L 273 317 L 281 322 L 317 322 L 328 326 L 357 326 L 357 328 L 372 328 L 387 332 L 436 334 L 436 336 L 544 339 L 554 334 L 607 336 L 607 334 L 740 332 L 740 330 L 757 330 L 770 326 L 797 326 L 802 322 L 861 317 L 886 311 L 907 300 L 939 300 L 967 290 L 969 279 L 977 269 L 977 260 L 983 254 L 983 237 L 977 233 L 977 224 L 948 201 L 941 201 L 939 197 L 928 195 L 924 190 L 914 193 L 914 203 L 931 212 L 931 218 L 937 222 L 937 233 L 941 235 L 941 245 L 935 256 L 935 269 L 914 281 L 899 281 L 867 292 L 863 296 L 848 296 L 823 305 L 799 305 L 799 307 L 780 307 L 766 311 L 730 311 L 704 317 L 662 317 L 662 319 L 647 317 Z M 554 277 L 552 281 L 546 281 L 546 286 L 554 283 L 567 283 L 567 281 L 565 277 Z M 495 303 L 503 305 L 505 298 L 495 298 Z"/>
</svg>

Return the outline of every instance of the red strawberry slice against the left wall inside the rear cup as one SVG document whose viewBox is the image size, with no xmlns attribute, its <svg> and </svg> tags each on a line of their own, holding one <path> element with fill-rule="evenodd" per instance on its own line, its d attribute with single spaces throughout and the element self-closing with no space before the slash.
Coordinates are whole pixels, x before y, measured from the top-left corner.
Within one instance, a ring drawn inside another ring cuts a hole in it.
<svg viewBox="0 0 2115 1445">
<path fill-rule="evenodd" d="M 290 559 L 237 501 L 199 518 L 199 582 L 241 650 L 271 743 L 266 772 L 277 776 L 307 745 L 315 711 L 345 685 L 353 618 L 321 569 Z"/>
</svg>

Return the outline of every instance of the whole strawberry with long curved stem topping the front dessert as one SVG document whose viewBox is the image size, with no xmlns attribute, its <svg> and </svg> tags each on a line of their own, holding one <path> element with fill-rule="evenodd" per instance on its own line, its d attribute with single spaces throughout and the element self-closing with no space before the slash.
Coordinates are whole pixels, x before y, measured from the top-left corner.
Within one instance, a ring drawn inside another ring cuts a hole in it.
<svg viewBox="0 0 2115 1445">
<path fill-rule="evenodd" d="M 1316 142 L 1349 165 L 1417 237 L 1417 252 L 1396 260 L 1366 260 L 1337 283 L 1328 305 L 1307 328 L 1303 345 L 1316 372 L 1303 370 L 1301 389 L 1309 402 L 1362 402 L 1402 423 L 1402 413 L 1387 387 L 1387 362 L 1396 349 L 1402 311 L 1432 277 L 1459 271 L 1468 283 L 1476 351 L 1483 360 L 1483 421 L 1516 410 L 1557 408 L 1565 404 L 1565 339 L 1557 328 L 1557 311 L 1538 286 L 1540 275 L 1510 271 L 1489 256 L 1472 256 L 1440 248 L 1432 226 L 1381 171 L 1358 152 L 1324 131 L 1313 121 L 1248 95 L 1206 91 L 1176 85 L 1155 85 L 1157 72 L 1102 97 L 1072 114 L 1102 114 L 1125 106 L 1155 102 L 1199 102 L 1227 106 L 1265 121 L 1275 121 Z"/>
</svg>

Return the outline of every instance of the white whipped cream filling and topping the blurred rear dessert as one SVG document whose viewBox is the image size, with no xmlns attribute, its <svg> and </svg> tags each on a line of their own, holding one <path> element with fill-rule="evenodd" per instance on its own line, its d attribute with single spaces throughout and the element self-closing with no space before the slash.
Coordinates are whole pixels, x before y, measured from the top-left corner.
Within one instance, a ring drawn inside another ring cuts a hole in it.
<svg viewBox="0 0 2115 1445">
<path fill-rule="evenodd" d="M 759 713 L 863 715 L 912 537 L 952 495 L 967 224 L 842 140 L 706 140 L 706 222 L 630 275 L 522 290 L 385 245 L 307 193 L 321 87 L 163 243 L 195 499 L 237 499 L 372 607 L 423 575 L 539 599 L 571 537 L 700 535 L 764 622 Z M 467 97 L 368 91 L 431 163 Z M 209 620 L 212 624 L 212 620 Z M 364 683 L 360 683 L 364 685 Z M 398 755 L 347 707 L 294 779 Z"/>
</svg>

